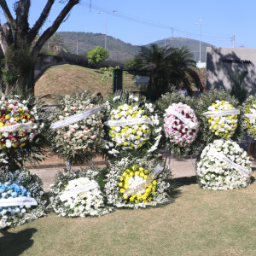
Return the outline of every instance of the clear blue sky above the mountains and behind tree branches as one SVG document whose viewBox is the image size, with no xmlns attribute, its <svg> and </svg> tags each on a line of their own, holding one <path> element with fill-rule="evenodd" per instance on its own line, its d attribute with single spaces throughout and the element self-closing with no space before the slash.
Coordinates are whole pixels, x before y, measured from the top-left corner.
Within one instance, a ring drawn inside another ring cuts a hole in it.
<svg viewBox="0 0 256 256">
<path fill-rule="evenodd" d="M 14 2 L 7 1 L 9 6 Z M 45 2 L 32 0 L 32 24 Z M 60 11 L 57 2 L 44 28 Z M 98 12 L 108 12 L 108 36 L 130 44 L 149 44 L 172 36 L 199 40 L 201 36 L 202 41 L 215 46 L 232 47 L 231 38 L 235 35 L 236 47 L 256 48 L 255 9 L 255 0 L 81 0 L 59 31 L 105 34 L 106 14 Z M 0 18 L 3 22 L 2 11 Z"/>
</svg>

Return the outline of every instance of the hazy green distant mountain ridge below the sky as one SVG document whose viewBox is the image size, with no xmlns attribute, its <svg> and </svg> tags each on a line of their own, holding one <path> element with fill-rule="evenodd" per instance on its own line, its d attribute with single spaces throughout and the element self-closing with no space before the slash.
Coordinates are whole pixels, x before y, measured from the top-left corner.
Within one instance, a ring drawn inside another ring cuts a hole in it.
<svg viewBox="0 0 256 256">
<path fill-rule="evenodd" d="M 70 52 L 76 54 L 77 46 L 79 55 L 86 55 L 87 51 L 97 46 L 105 46 L 105 35 L 90 32 L 57 32 L 63 38 L 64 44 Z M 199 61 L 199 41 L 189 38 L 166 38 L 155 41 L 159 46 L 171 45 L 172 47 L 188 47 L 194 55 L 195 61 Z M 149 44 L 145 45 L 148 46 Z M 206 61 L 207 46 L 212 44 L 201 42 L 201 61 Z M 126 61 L 138 54 L 140 46 L 127 44 L 117 38 L 107 37 L 107 49 L 109 59 L 113 61 Z"/>
</svg>

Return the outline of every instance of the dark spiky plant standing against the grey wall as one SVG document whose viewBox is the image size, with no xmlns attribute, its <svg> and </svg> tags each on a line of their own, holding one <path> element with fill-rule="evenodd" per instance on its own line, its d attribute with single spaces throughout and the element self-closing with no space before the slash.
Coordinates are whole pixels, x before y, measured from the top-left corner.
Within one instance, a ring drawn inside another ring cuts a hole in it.
<svg viewBox="0 0 256 256">
<path fill-rule="evenodd" d="M 245 88 L 242 88 L 242 85 L 241 85 L 244 79 L 246 78 L 247 74 L 248 74 L 247 71 L 243 71 L 241 73 L 239 72 L 236 73 L 236 76 L 235 76 L 233 73 L 231 73 L 230 70 L 228 70 L 228 75 L 233 84 L 230 94 L 231 96 L 235 96 L 240 104 L 242 104 L 246 100 L 247 94 L 248 94 L 248 91 Z"/>
</svg>

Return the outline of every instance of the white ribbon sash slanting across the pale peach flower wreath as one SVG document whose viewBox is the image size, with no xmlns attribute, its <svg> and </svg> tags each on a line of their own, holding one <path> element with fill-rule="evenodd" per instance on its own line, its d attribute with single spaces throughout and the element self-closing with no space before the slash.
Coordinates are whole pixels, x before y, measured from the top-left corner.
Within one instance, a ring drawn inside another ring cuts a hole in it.
<svg viewBox="0 0 256 256">
<path fill-rule="evenodd" d="M 87 110 L 83 113 L 77 113 L 67 119 L 57 121 L 57 122 L 53 123 L 52 125 L 50 125 L 49 128 L 57 129 L 57 128 L 61 128 L 61 127 L 67 126 L 67 125 L 71 125 L 71 124 L 79 122 L 80 120 L 85 119 L 86 117 L 90 116 L 91 114 L 97 113 L 101 110 L 102 110 L 102 108 L 91 108 L 90 110 Z"/>
</svg>

